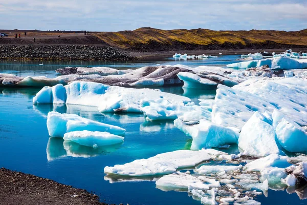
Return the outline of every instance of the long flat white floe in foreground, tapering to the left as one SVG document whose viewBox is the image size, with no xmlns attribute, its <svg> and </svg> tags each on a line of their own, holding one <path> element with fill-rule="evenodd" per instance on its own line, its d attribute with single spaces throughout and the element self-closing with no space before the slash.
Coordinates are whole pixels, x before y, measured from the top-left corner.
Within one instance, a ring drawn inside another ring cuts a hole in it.
<svg viewBox="0 0 307 205">
<path fill-rule="evenodd" d="M 206 150 L 178 150 L 148 159 L 137 159 L 124 165 L 105 167 L 104 172 L 123 176 L 164 175 L 176 172 L 178 169 L 194 167 L 202 161 L 209 160 L 211 156 Z"/>
</svg>

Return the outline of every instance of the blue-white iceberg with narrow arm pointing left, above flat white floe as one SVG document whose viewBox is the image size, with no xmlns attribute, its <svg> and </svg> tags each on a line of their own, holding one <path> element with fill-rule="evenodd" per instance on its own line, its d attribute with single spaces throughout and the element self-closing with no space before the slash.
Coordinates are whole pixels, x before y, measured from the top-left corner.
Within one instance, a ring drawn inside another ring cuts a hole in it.
<svg viewBox="0 0 307 205">
<path fill-rule="evenodd" d="M 189 126 L 176 119 L 174 125 L 193 138 L 191 150 L 234 144 L 239 136 L 237 129 L 219 126 L 208 120 L 200 120 L 200 124 Z"/>
</svg>

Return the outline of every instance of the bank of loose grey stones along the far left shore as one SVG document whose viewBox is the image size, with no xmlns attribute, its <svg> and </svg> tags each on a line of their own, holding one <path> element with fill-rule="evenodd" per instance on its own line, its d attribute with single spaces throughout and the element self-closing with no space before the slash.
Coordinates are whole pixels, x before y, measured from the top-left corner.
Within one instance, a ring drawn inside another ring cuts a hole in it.
<svg viewBox="0 0 307 205">
<path fill-rule="evenodd" d="M 88 45 L 1 45 L 0 59 L 26 60 L 133 60 L 128 55 L 114 47 Z"/>
</svg>

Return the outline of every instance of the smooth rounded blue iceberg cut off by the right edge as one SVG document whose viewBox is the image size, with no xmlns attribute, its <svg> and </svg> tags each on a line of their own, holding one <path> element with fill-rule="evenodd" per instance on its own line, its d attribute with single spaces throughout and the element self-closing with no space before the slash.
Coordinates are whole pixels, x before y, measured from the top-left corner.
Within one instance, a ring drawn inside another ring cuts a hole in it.
<svg viewBox="0 0 307 205">
<path fill-rule="evenodd" d="M 307 150 L 307 132 L 289 117 L 278 111 L 273 112 L 276 136 L 279 144 L 289 152 Z"/>
</svg>

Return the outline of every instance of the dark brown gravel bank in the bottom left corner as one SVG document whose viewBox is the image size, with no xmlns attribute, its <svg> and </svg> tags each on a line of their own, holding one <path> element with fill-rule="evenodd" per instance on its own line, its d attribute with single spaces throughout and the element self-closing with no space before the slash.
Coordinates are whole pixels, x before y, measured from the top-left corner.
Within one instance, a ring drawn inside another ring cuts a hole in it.
<svg viewBox="0 0 307 205">
<path fill-rule="evenodd" d="M 0 204 L 99 204 L 97 195 L 50 179 L 0 169 Z"/>
</svg>

